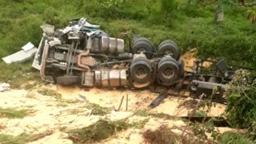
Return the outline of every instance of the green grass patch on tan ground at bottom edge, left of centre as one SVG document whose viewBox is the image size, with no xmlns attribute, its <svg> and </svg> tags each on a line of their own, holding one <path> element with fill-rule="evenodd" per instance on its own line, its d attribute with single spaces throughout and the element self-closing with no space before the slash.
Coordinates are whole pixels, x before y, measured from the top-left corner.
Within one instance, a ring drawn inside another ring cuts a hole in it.
<svg viewBox="0 0 256 144">
<path fill-rule="evenodd" d="M 98 120 L 91 126 L 80 128 L 77 130 L 71 130 L 68 132 L 69 139 L 72 139 L 74 143 L 90 143 L 107 139 L 108 137 L 120 132 L 121 130 L 127 130 L 128 128 L 142 128 L 147 120 L 135 122 L 129 124 L 126 119 L 109 121 L 109 120 Z"/>
</svg>

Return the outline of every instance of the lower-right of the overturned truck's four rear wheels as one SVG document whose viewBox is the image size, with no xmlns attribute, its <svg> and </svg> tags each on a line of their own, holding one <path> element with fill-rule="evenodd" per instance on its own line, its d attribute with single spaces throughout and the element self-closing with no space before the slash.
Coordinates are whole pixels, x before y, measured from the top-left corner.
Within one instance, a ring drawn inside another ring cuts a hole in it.
<svg viewBox="0 0 256 144">
<path fill-rule="evenodd" d="M 158 80 L 165 86 L 170 86 L 179 77 L 178 62 L 171 57 L 165 57 L 158 63 Z"/>
</svg>

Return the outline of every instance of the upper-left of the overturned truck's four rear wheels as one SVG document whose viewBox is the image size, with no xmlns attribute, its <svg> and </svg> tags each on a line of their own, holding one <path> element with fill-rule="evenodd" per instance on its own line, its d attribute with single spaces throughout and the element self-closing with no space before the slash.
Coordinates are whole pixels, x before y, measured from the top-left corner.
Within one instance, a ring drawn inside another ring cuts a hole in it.
<svg viewBox="0 0 256 144">
<path fill-rule="evenodd" d="M 146 58 L 150 59 L 152 58 L 152 52 L 154 51 L 152 43 L 150 40 L 140 37 L 138 39 L 135 39 L 132 45 L 132 50 L 131 52 L 133 54 L 139 54 L 140 52 L 146 52 Z"/>
</svg>

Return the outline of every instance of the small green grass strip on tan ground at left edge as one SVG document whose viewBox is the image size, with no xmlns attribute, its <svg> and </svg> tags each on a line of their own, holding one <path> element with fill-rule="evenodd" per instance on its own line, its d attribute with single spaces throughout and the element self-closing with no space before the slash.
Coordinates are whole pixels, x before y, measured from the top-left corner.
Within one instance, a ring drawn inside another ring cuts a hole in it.
<svg viewBox="0 0 256 144">
<path fill-rule="evenodd" d="M 16 110 L 16 109 L 3 109 L 0 108 L 0 117 L 5 117 L 5 118 L 24 118 L 29 114 L 28 109 L 21 109 L 21 110 Z"/>
</svg>

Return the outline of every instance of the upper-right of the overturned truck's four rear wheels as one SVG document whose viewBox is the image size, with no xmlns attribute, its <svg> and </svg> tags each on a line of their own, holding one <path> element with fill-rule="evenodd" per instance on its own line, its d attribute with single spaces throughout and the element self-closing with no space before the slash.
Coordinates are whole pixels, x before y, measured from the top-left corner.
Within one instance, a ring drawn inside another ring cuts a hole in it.
<svg viewBox="0 0 256 144">
<path fill-rule="evenodd" d="M 161 56 L 170 55 L 175 58 L 175 60 L 179 60 L 180 57 L 180 52 L 177 44 L 171 40 L 162 41 L 160 45 L 158 45 L 158 52 L 164 53 L 161 54 Z"/>
</svg>

